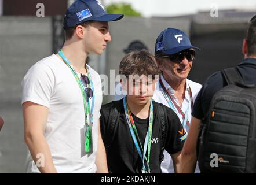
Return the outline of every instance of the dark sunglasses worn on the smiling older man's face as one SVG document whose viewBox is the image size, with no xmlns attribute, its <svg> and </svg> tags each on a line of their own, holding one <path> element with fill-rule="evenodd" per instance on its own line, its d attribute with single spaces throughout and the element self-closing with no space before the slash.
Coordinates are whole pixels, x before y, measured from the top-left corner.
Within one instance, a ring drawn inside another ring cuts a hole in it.
<svg viewBox="0 0 256 185">
<path fill-rule="evenodd" d="M 179 53 L 171 54 L 169 56 L 162 56 L 163 58 L 169 58 L 170 61 L 180 63 L 184 58 L 188 61 L 193 61 L 196 57 L 196 52 L 194 50 L 184 50 Z"/>
</svg>

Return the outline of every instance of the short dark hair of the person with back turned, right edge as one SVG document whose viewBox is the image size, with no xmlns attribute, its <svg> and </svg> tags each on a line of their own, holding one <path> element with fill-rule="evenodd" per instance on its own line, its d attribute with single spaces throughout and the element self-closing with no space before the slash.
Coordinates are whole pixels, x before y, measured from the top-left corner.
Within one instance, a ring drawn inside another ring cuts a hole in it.
<svg viewBox="0 0 256 185">
<path fill-rule="evenodd" d="M 245 39 L 248 42 L 247 56 L 256 55 L 256 16 L 254 16 L 248 24 Z"/>
</svg>

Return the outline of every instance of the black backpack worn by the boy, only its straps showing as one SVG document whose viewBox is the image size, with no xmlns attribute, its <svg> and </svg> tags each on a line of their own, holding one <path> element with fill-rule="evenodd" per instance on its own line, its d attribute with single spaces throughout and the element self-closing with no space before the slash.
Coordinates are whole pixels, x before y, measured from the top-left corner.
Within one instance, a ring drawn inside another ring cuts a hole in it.
<svg viewBox="0 0 256 185">
<path fill-rule="evenodd" d="M 164 105 L 162 105 L 161 103 L 158 103 L 158 107 L 156 108 L 156 111 L 160 117 L 160 122 L 161 122 L 161 129 L 162 129 L 162 146 L 161 146 L 161 151 L 160 151 L 160 162 L 163 161 L 163 151 L 164 151 L 164 145 L 166 142 L 166 124 L 167 124 L 167 113 L 166 113 L 166 109 L 164 109 L 163 107 Z M 109 117 L 108 117 L 108 121 L 107 121 L 107 130 L 105 132 L 101 131 L 101 133 L 105 133 L 103 135 L 103 142 L 104 142 L 104 146 L 105 146 L 105 150 L 107 153 L 107 157 L 108 157 L 108 152 L 109 152 L 109 147 L 111 146 L 111 143 L 115 137 L 115 133 L 116 133 L 116 128 L 117 125 L 119 123 L 119 116 L 120 116 L 120 112 L 118 111 L 118 109 L 116 109 L 115 106 L 115 101 L 111 102 L 111 109 L 110 109 L 110 113 L 109 113 Z"/>
</svg>

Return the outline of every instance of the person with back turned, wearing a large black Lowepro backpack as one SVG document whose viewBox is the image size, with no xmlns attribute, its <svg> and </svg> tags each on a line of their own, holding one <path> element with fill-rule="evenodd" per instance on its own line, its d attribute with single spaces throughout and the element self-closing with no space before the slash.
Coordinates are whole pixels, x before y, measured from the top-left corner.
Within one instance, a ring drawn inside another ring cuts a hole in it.
<svg viewBox="0 0 256 185">
<path fill-rule="evenodd" d="M 256 15 L 248 24 L 242 52 L 239 65 L 215 72 L 203 84 L 180 172 L 192 173 L 198 157 L 202 173 L 256 173 Z"/>
</svg>

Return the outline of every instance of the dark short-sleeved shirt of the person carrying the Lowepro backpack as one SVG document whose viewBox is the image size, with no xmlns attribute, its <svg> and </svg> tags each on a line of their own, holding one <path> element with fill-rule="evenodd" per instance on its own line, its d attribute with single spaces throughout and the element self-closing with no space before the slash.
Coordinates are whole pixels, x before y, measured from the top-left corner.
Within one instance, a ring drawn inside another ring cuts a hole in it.
<svg viewBox="0 0 256 185">
<path fill-rule="evenodd" d="M 256 84 L 256 58 L 246 58 L 238 65 L 238 71 L 246 84 Z M 215 92 L 225 87 L 227 83 L 221 71 L 213 73 L 204 82 L 195 100 L 192 116 L 198 119 L 206 117 L 211 99 Z"/>
</svg>

